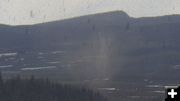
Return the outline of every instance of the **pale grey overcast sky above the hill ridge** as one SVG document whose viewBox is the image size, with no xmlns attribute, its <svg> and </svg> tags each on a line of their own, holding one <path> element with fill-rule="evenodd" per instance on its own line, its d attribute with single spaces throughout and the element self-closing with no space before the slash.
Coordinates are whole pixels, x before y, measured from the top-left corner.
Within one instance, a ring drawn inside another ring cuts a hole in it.
<svg viewBox="0 0 180 101">
<path fill-rule="evenodd" d="M 180 14 L 180 0 L 0 0 L 0 24 L 36 24 L 114 10 L 136 18 Z"/>
</svg>

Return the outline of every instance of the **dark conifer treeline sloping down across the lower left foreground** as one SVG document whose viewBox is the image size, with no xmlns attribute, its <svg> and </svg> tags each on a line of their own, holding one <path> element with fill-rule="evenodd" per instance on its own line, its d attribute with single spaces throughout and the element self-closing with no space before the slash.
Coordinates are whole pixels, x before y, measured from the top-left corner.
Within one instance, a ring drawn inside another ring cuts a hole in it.
<svg viewBox="0 0 180 101">
<path fill-rule="evenodd" d="M 100 94 L 85 88 L 52 83 L 49 80 L 13 79 L 0 76 L 0 101 L 106 101 Z"/>
</svg>

